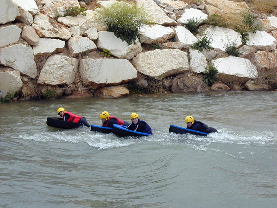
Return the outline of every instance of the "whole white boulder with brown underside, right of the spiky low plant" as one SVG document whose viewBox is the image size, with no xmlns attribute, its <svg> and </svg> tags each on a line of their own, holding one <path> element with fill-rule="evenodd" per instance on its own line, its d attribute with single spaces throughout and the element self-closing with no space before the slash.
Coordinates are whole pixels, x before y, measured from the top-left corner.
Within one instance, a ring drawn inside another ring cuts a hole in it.
<svg viewBox="0 0 277 208">
<path fill-rule="evenodd" d="M 212 63 L 218 70 L 217 77 L 222 82 L 244 83 L 257 77 L 257 68 L 248 59 L 229 56 L 212 60 Z"/>
</svg>

